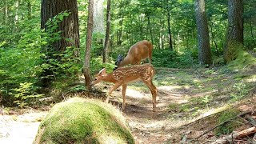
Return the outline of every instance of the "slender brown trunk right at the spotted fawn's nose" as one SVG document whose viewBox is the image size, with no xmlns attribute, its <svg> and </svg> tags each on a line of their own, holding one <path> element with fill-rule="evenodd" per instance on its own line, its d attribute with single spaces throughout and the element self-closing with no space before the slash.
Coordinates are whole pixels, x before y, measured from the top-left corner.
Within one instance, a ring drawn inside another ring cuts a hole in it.
<svg viewBox="0 0 256 144">
<path fill-rule="evenodd" d="M 87 90 L 91 90 L 90 82 L 90 47 L 94 28 L 94 0 L 89 0 L 88 19 L 87 19 L 87 34 L 86 34 L 86 54 L 84 62 L 84 76 Z"/>
</svg>

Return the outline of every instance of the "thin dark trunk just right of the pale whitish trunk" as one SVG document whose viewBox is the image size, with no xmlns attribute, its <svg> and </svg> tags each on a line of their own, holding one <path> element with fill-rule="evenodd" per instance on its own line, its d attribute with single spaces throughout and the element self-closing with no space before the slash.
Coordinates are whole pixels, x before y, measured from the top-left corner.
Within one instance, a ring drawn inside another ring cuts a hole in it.
<svg viewBox="0 0 256 144">
<path fill-rule="evenodd" d="M 107 56 L 108 56 L 108 47 L 109 47 L 109 41 L 110 41 L 110 6 L 111 1 L 107 0 L 106 4 L 106 38 L 104 43 L 104 50 L 103 50 L 103 63 L 106 62 Z"/>
</svg>

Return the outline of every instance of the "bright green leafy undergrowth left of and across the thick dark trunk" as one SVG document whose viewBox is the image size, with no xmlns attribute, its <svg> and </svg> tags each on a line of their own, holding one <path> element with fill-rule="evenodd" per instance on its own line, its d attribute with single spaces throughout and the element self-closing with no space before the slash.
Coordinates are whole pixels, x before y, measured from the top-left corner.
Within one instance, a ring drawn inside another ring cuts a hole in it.
<svg viewBox="0 0 256 144">
<path fill-rule="evenodd" d="M 47 22 L 47 30 L 40 30 L 40 19 L 24 26 L 18 42 L 8 45 L 8 41 L 0 45 L 0 90 L 3 101 L 10 101 L 24 106 L 28 102 L 35 102 L 42 74 L 46 70 L 53 71 L 53 75 L 44 75 L 49 78 L 77 78 L 82 66 L 78 58 L 74 58 L 74 47 L 67 47 L 64 52 L 53 51 L 51 42 L 59 40 L 60 32 L 55 32 L 58 22 L 69 15 L 63 12 Z M 17 44 L 17 45 L 15 45 Z M 54 58 L 50 58 L 54 55 Z M 58 59 L 56 59 L 58 57 Z"/>
</svg>

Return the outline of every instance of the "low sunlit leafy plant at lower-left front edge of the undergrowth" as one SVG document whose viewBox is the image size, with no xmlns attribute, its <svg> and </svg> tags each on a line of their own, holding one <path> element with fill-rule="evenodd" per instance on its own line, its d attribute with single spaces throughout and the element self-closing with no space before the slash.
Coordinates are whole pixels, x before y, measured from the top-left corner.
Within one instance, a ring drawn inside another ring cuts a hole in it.
<svg viewBox="0 0 256 144">
<path fill-rule="evenodd" d="M 37 88 L 30 82 L 21 83 L 18 88 L 12 89 L 14 92 L 14 98 L 17 99 L 14 101 L 19 107 L 24 107 L 28 104 L 29 101 L 34 98 L 42 97 L 43 94 L 37 94 Z"/>
</svg>

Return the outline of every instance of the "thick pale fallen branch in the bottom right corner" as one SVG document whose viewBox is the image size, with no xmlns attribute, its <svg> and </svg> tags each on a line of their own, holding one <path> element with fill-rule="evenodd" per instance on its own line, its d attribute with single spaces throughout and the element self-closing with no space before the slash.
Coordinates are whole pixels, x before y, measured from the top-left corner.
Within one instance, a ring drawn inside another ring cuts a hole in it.
<svg viewBox="0 0 256 144">
<path fill-rule="evenodd" d="M 244 138 L 247 135 L 254 134 L 254 133 L 256 133 L 256 126 L 250 127 L 249 129 L 242 130 L 234 134 L 230 134 L 224 138 L 217 139 L 215 142 L 218 144 L 225 144 L 225 143 L 233 142 L 234 139 Z"/>
</svg>

